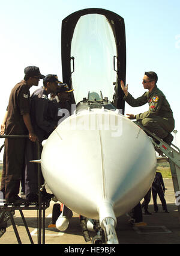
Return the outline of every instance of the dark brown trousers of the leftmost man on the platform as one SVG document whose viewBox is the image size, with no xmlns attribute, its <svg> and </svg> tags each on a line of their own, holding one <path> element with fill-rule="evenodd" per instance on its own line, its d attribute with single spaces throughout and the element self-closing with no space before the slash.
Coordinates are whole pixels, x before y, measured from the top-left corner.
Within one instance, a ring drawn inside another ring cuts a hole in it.
<svg viewBox="0 0 180 256">
<path fill-rule="evenodd" d="M 5 199 L 19 194 L 20 180 L 24 171 L 26 139 L 5 139 L 1 191 Z"/>
</svg>

